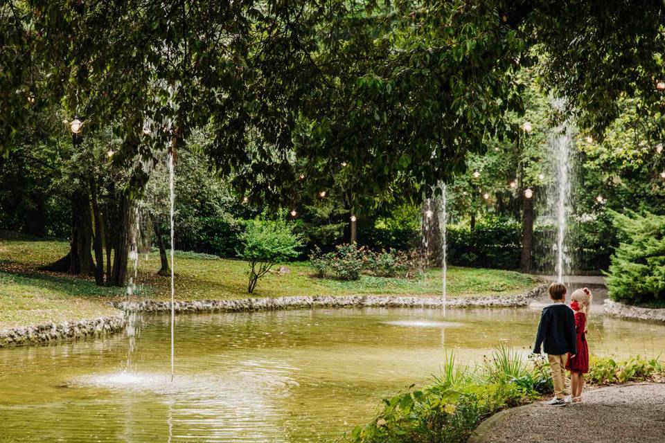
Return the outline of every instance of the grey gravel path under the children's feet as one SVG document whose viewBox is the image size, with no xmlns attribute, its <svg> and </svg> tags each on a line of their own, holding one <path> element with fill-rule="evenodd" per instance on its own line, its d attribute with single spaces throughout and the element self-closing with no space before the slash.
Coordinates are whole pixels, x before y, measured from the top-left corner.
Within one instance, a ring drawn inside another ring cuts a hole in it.
<svg viewBox="0 0 665 443">
<path fill-rule="evenodd" d="M 583 404 L 544 402 L 505 411 L 478 429 L 472 442 L 661 443 L 665 384 L 612 386 L 585 392 Z"/>
</svg>

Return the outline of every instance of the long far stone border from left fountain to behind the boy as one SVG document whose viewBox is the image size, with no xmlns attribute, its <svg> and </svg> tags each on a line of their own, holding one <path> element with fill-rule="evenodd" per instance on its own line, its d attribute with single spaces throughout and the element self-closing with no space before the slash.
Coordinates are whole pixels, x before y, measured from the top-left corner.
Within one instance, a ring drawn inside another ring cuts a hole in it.
<svg viewBox="0 0 665 443">
<path fill-rule="evenodd" d="M 534 298 L 547 293 L 547 284 L 541 284 L 530 291 L 515 296 L 482 296 L 452 298 L 446 307 L 519 307 L 529 305 Z M 168 312 L 168 301 L 143 300 L 140 302 L 114 302 L 113 306 L 123 311 Z M 425 307 L 442 308 L 443 299 L 438 297 L 408 296 L 314 296 L 278 298 L 242 298 L 240 300 L 193 300 L 176 301 L 177 314 L 203 312 L 251 312 L 274 311 L 278 309 L 298 309 L 314 307 Z"/>
</svg>

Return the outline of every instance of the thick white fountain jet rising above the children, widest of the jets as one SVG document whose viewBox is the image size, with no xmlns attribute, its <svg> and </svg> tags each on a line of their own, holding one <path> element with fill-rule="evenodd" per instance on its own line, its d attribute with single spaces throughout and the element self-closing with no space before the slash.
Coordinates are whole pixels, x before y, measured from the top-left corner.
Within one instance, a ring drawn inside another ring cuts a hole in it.
<svg viewBox="0 0 665 443">
<path fill-rule="evenodd" d="M 558 98 L 552 100 L 555 111 L 563 111 L 565 100 Z M 571 256 L 568 245 L 568 222 L 572 208 L 572 188 L 574 171 L 571 167 L 571 147 L 574 143 L 574 127 L 569 120 L 564 120 L 553 128 L 549 136 L 549 147 L 553 159 L 554 180 L 548 190 L 548 206 L 551 208 L 551 217 L 556 228 L 556 241 L 553 250 L 556 253 L 555 271 L 558 282 L 570 273 Z"/>
</svg>

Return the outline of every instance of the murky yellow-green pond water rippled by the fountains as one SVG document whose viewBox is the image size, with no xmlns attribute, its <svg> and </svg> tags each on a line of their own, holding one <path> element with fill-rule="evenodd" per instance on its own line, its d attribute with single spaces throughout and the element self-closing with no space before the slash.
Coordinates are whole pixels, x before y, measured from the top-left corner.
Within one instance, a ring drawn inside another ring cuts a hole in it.
<svg viewBox="0 0 665 443">
<path fill-rule="evenodd" d="M 0 350 L 0 442 L 336 440 L 380 400 L 440 373 L 445 352 L 481 361 L 531 346 L 538 309 L 314 309 L 177 318 L 136 336 Z M 130 347 L 133 348 L 130 352 Z M 593 315 L 589 347 L 665 350 L 665 326 Z"/>
</svg>

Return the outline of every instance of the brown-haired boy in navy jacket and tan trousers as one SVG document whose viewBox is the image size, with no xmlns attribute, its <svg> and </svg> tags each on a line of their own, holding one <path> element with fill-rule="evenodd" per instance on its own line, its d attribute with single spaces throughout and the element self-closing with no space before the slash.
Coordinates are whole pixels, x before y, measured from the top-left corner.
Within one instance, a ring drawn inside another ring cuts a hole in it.
<svg viewBox="0 0 665 443">
<path fill-rule="evenodd" d="M 569 352 L 571 356 L 577 354 L 575 315 L 573 310 L 565 305 L 566 287 L 563 284 L 550 284 L 549 298 L 552 299 L 552 304 L 542 309 L 533 353 L 540 354 L 540 345 L 544 341 L 555 395 L 547 404 L 565 406 L 566 360 Z"/>
</svg>

